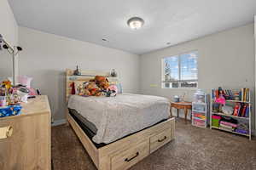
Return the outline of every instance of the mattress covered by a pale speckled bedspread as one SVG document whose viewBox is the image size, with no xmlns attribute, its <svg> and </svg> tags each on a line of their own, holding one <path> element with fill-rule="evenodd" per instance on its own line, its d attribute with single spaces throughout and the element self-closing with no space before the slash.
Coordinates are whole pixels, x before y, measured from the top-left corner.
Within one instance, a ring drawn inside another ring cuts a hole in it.
<svg viewBox="0 0 256 170">
<path fill-rule="evenodd" d="M 96 130 L 92 138 L 96 144 L 109 144 L 170 116 L 168 99 L 140 94 L 119 94 L 116 97 L 72 95 L 68 99 L 68 108 L 83 116 L 87 125 L 90 122 L 91 131 Z"/>
</svg>

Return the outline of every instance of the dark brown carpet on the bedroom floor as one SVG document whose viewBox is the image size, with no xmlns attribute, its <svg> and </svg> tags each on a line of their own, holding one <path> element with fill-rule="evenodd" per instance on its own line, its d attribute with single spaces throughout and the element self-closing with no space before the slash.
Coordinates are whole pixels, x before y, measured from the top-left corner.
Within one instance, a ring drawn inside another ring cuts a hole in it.
<svg viewBox="0 0 256 170">
<path fill-rule="evenodd" d="M 96 170 L 83 145 L 67 126 L 52 127 L 54 170 Z M 256 170 L 256 140 L 218 130 L 176 123 L 176 139 L 131 170 Z"/>
</svg>

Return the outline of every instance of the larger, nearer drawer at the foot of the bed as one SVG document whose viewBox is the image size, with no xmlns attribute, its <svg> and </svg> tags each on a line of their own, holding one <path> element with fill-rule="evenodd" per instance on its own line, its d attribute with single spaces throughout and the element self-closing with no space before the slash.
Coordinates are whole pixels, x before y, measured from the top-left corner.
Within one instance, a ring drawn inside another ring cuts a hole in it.
<svg viewBox="0 0 256 170">
<path fill-rule="evenodd" d="M 111 170 L 125 170 L 149 155 L 148 140 L 111 158 Z"/>
</svg>

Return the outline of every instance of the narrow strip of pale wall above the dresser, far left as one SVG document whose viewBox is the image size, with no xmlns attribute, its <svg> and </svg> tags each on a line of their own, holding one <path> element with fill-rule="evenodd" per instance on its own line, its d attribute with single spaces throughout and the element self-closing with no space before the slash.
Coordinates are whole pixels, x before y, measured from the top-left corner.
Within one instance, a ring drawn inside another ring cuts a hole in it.
<svg viewBox="0 0 256 170">
<path fill-rule="evenodd" d="M 0 34 L 9 42 L 10 45 L 15 46 L 18 43 L 18 26 L 15 16 L 9 7 L 8 0 L 0 0 Z M 0 81 L 3 78 L 12 76 L 12 58 L 6 50 L 0 51 Z M 18 66 L 18 65 L 17 65 Z"/>
</svg>

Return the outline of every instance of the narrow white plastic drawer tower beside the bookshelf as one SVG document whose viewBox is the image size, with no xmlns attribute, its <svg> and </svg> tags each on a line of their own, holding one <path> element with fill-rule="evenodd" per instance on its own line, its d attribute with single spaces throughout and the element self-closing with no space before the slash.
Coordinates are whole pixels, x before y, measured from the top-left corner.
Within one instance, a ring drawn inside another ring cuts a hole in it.
<svg viewBox="0 0 256 170">
<path fill-rule="evenodd" d="M 192 125 L 195 127 L 207 127 L 208 110 L 209 110 L 208 95 L 198 89 L 194 94 L 192 102 Z"/>
</svg>

